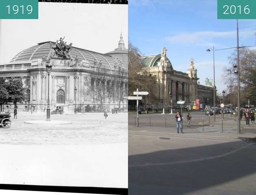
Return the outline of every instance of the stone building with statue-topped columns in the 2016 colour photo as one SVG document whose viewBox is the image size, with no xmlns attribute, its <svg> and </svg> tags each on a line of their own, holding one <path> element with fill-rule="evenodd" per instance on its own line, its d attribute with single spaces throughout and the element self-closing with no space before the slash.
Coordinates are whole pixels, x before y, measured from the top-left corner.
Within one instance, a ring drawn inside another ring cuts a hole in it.
<svg viewBox="0 0 256 195">
<path fill-rule="evenodd" d="M 188 61 L 186 72 L 176 71 L 166 56 L 166 48 L 161 54 L 141 56 L 139 62 L 157 79 L 157 97 L 160 104 L 167 108 L 172 100 L 173 107 L 177 107 L 177 101 L 184 100 L 186 105 L 193 105 L 196 99 L 199 104 L 213 106 L 213 86 L 199 85 L 197 69 L 193 58 Z"/>
</svg>

